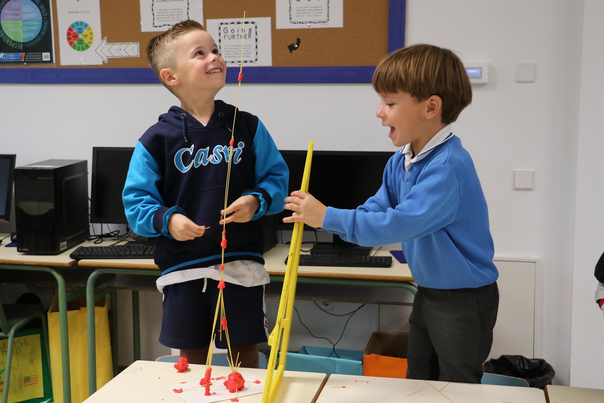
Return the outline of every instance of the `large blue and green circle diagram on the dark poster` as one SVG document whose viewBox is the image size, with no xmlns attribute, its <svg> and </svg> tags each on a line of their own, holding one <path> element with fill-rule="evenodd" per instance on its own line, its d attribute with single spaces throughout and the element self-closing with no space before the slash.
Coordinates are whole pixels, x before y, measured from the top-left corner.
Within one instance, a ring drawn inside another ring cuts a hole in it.
<svg viewBox="0 0 604 403">
<path fill-rule="evenodd" d="M 10 0 L 2 8 L 0 25 L 14 42 L 29 42 L 42 30 L 42 13 L 31 0 Z"/>
</svg>

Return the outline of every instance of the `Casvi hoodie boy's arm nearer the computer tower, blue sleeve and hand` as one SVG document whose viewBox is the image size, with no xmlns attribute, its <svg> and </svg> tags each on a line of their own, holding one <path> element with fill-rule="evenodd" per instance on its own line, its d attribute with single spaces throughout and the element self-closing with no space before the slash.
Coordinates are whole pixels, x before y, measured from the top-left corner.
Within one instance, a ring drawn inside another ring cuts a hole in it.
<svg viewBox="0 0 604 403">
<path fill-rule="evenodd" d="M 124 211 L 132 231 L 147 237 L 162 234 L 176 240 L 202 236 L 205 227 L 199 227 L 185 217 L 180 207 L 164 206 L 158 190 L 162 179 L 157 161 L 139 142 L 132 154 L 122 193 Z"/>
</svg>

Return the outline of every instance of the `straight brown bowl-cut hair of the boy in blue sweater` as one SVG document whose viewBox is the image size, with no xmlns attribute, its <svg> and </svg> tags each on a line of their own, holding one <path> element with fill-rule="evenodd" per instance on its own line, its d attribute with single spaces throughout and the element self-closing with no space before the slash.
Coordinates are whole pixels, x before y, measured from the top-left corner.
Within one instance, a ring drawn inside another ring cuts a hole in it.
<svg viewBox="0 0 604 403">
<path fill-rule="evenodd" d="M 472 102 L 472 87 L 466 69 L 452 51 L 417 44 L 384 57 L 373 73 L 378 94 L 409 92 L 418 102 L 431 95 L 442 99 L 442 122 L 449 124 Z"/>
</svg>

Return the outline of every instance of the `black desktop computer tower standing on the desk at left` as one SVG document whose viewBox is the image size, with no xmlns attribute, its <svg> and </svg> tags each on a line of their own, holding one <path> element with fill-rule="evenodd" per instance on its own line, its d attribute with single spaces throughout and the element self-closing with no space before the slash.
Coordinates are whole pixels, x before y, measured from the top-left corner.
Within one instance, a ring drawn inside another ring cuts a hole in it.
<svg viewBox="0 0 604 403">
<path fill-rule="evenodd" d="M 88 161 L 46 160 L 14 169 L 17 250 L 61 253 L 89 233 Z"/>
</svg>

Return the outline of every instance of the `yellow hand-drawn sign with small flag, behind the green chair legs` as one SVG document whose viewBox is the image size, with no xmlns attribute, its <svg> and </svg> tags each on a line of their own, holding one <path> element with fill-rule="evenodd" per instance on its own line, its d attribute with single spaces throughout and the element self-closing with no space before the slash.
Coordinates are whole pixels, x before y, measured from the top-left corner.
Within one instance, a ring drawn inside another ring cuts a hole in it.
<svg viewBox="0 0 604 403">
<path fill-rule="evenodd" d="M 7 349 L 8 339 L 0 340 L 0 395 L 2 395 L 4 389 Z M 42 398 L 43 396 L 40 335 L 15 337 L 10 366 L 8 403 Z"/>
</svg>

